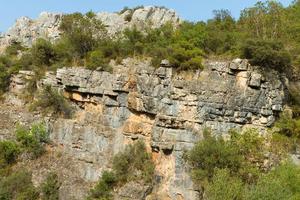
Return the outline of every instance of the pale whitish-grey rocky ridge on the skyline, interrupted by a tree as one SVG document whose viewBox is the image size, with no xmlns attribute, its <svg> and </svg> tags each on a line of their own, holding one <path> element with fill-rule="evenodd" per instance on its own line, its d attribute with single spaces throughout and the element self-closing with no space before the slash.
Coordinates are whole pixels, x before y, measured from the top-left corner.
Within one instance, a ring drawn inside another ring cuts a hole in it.
<svg viewBox="0 0 300 200">
<path fill-rule="evenodd" d="M 0 52 L 13 42 L 21 42 L 25 46 L 31 46 L 38 38 L 57 40 L 61 33 L 59 25 L 63 14 L 42 12 L 33 20 L 28 17 L 19 18 L 13 27 L 0 36 Z M 96 18 L 105 25 L 110 36 L 121 33 L 126 28 L 137 27 L 144 30 L 146 27 L 159 28 L 170 22 L 174 26 L 180 23 L 180 18 L 174 10 L 147 6 L 120 13 L 96 13 Z"/>
</svg>

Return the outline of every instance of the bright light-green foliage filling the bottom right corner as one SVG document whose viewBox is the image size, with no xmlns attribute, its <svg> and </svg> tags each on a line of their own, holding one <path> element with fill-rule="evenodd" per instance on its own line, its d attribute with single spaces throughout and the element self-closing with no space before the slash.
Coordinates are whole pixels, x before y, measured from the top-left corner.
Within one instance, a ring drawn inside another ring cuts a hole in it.
<svg viewBox="0 0 300 200">
<path fill-rule="evenodd" d="M 243 184 L 239 177 L 233 177 L 227 169 L 216 170 L 207 186 L 205 196 L 210 200 L 281 200 L 299 199 L 300 168 L 284 163 L 274 170 L 260 174 L 255 184 Z"/>
</svg>

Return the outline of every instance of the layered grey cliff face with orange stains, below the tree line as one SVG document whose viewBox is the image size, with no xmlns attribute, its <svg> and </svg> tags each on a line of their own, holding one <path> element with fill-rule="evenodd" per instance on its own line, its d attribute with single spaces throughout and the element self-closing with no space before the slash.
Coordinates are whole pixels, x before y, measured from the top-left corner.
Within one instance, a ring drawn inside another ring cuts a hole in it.
<svg viewBox="0 0 300 200">
<path fill-rule="evenodd" d="M 149 61 L 134 59 L 112 66 L 113 73 L 61 68 L 46 74 L 40 84 L 56 87 L 77 107 L 72 119 L 48 119 L 51 139 L 72 158 L 86 183 L 97 181 L 127 144 L 145 141 L 156 165 L 149 200 L 197 199 L 182 156 L 202 138 L 203 129 L 216 134 L 231 128 L 265 130 L 284 106 L 279 74 L 264 73 L 247 60 L 207 62 L 197 73 L 177 73 L 167 65 L 154 68 Z M 12 93 L 22 91 L 21 77 L 28 75 L 12 78 Z M 65 181 L 70 185 L 72 180 Z M 62 199 L 70 198 L 72 189 L 63 188 Z M 141 199 L 145 189 L 130 190 L 121 188 L 118 199 L 128 199 L 128 193 Z"/>
</svg>

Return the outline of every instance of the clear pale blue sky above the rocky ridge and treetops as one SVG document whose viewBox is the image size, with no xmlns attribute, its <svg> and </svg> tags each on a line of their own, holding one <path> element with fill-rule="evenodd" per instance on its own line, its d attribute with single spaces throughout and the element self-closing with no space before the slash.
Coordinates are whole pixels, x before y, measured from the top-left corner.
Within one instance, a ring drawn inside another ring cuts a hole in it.
<svg viewBox="0 0 300 200">
<path fill-rule="evenodd" d="M 228 9 L 238 17 L 243 8 L 252 6 L 255 0 L 0 0 L 0 32 L 5 32 L 21 16 L 36 18 L 42 11 L 87 12 L 119 11 L 123 7 L 158 5 L 172 8 L 186 20 L 198 21 L 212 17 L 212 11 Z M 287 6 L 292 0 L 280 0 Z"/>
</svg>

